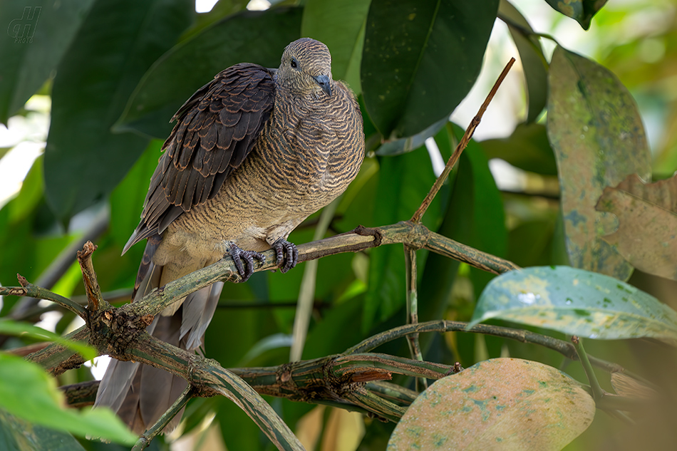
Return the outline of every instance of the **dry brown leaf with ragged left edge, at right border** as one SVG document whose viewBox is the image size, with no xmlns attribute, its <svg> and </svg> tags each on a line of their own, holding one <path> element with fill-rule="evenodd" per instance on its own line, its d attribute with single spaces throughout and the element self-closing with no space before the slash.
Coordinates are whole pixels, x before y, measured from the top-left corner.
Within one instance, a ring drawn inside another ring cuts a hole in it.
<svg viewBox="0 0 677 451">
<path fill-rule="evenodd" d="M 677 178 L 645 185 L 629 175 L 604 188 L 596 209 L 619 219 L 616 232 L 602 239 L 641 271 L 677 280 Z"/>
</svg>

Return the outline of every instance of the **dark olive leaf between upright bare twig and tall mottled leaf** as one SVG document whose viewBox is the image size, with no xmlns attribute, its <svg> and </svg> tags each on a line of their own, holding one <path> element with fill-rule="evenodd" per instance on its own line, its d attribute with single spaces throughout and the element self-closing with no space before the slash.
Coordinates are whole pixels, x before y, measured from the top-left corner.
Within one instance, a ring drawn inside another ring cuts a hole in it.
<svg viewBox="0 0 677 451">
<path fill-rule="evenodd" d="M 544 125 L 521 123 L 507 138 L 482 141 L 487 157 L 500 158 L 525 171 L 557 175 L 557 162 Z"/>
</svg>

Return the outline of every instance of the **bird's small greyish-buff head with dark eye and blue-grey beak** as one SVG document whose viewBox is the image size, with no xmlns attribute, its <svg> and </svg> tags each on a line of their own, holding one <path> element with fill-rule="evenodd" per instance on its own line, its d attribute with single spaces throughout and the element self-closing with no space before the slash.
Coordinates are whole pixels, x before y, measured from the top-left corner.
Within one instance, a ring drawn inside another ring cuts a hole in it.
<svg viewBox="0 0 677 451">
<path fill-rule="evenodd" d="M 286 46 L 276 73 L 277 84 L 296 95 L 331 95 L 331 53 L 311 38 L 301 38 Z"/>
</svg>

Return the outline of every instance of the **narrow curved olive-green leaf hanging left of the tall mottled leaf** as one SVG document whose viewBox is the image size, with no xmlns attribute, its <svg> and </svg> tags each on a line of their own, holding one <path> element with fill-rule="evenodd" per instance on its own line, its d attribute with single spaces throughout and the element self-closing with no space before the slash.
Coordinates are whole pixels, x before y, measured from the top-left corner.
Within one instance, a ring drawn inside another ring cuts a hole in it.
<svg viewBox="0 0 677 451">
<path fill-rule="evenodd" d="M 524 16 L 509 1 L 501 0 L 498 16 L 505 21 L 520 53 L 524 81 L 527 83 L 527 123 L 532 123 L 541 114 L 547 100 L 547 67 L 543 48 L 537 36 L 529 34 L 534 30 Z"/>
</svg>

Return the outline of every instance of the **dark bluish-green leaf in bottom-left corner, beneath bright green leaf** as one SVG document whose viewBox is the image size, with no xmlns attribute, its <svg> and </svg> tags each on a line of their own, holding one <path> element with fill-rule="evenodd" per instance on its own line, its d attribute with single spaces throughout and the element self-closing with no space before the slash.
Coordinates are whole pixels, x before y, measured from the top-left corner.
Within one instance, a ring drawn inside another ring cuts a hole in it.
<svg viewBox="0 0 677 451">
<path fill-rule="evenodd" d="M 85 451 L 68 432 L 33 425 L 0 409 L 0 449 L 3 451 Z"/>
</svg>

